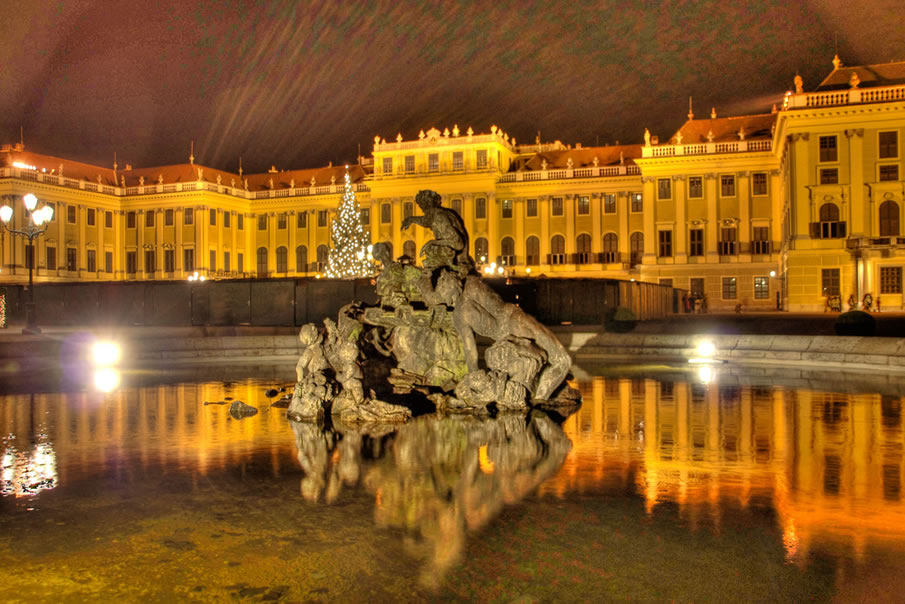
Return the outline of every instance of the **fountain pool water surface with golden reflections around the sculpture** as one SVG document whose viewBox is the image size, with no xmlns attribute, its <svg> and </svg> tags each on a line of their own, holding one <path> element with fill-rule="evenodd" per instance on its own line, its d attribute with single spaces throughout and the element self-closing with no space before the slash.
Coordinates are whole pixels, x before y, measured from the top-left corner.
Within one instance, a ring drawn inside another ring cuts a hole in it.
<svg viewBox="0 0 905 604">
<path fill-rule="evenodd" d="M 898 379 L 576 375 L 564 420 L 390 427 L 288 422 L 291 366 L 20 385 L 0 600 L 900 599 Z"/>
</svg>

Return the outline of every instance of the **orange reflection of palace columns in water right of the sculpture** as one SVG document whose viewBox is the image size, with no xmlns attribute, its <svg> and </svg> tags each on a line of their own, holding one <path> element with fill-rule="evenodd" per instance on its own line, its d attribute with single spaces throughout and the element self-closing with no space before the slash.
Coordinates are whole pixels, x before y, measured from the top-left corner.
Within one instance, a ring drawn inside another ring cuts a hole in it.
<svg viewBox="0 0 905 604">
<path fill-rule="evenodd" d="M 901 397 L 594 378 L 563 424 L 574 448 L 541 489 L 634 491 L 717 529 L 729 508 L 775 511 L 790 561 L 812 548 L 905 549 Z"/>
</svg>

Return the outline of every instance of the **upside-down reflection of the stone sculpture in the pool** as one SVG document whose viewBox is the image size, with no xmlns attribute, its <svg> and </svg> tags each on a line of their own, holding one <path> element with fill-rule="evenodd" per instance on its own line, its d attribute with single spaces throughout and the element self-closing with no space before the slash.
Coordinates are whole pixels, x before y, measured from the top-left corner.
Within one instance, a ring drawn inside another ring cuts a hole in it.
<svg viewBox="0 0 905 604">
<path fill-rule="evenodd" d="M 562 465 L 571 443 L 543 413 L 496 419 L 426 416 L 401 427 L 322 429 L 291 422 L 302 495 L 328 503 L 359 482 L 375 497 L 378 526 L 416 537 L 437 587 L 462 556 L 466 533 L 518 503 Z"/>
</svg>

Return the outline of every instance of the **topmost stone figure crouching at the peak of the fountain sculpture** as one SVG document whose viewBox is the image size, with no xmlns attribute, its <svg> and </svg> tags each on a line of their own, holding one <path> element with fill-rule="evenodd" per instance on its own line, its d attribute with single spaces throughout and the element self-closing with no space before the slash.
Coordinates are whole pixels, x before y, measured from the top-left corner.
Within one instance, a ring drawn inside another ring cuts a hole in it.
<svg viewBox="0 0 905 604">
<path fill-rule="evenodd" d="M 433 232 L 434 238 L 421 248 L 424 268 L 448 266 L 462 274 L 471 271 L 474 261 L 468 256 L 468 232 L 462 217 L 441 206 L 440 195 L 434 191 L 418 191 L 415 203 L 424 215 L 407 217 L 402 221 L 402 229 L 417 224 Z"/>
</svg>

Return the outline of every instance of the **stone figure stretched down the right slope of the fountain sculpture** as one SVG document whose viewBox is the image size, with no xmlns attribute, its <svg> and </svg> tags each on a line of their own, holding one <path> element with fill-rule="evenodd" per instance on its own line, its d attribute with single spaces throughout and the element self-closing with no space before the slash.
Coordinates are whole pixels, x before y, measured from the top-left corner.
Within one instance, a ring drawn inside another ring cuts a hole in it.
<svg viewBox="0 0 905 604">
<path fill-rule="evenodd" d="M 433 286 L 430 277 L 421 281 L 425 301 L 452 307 L 453 326 L 462 340 L 469 372 L 479 370 L 475 334 L 494 342 L 507 336 L 531 340 L 546 354 L 546 363 L 538 374 L 534 397 L 549 399 L 569 373 L 571 359 L 565 347 L 550 330 L 515 304 L 504 302 L 477 275 L 459 279 L 442 271 Z"/>
</svg>

